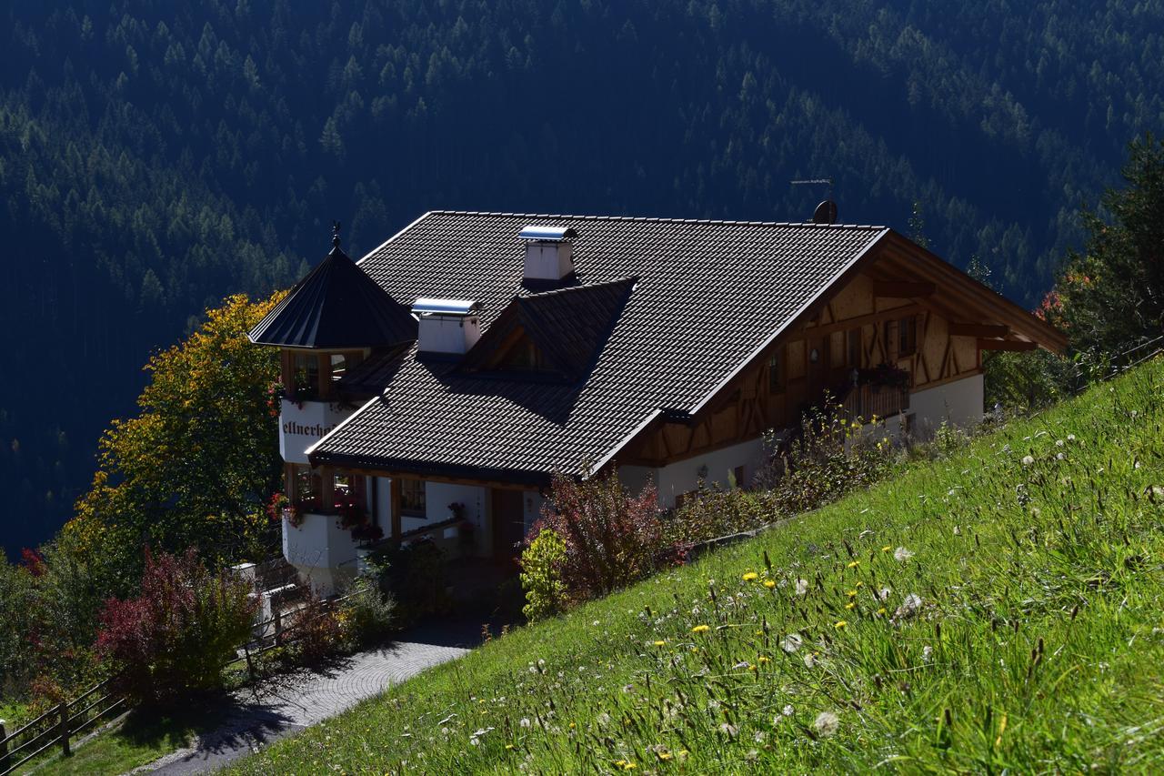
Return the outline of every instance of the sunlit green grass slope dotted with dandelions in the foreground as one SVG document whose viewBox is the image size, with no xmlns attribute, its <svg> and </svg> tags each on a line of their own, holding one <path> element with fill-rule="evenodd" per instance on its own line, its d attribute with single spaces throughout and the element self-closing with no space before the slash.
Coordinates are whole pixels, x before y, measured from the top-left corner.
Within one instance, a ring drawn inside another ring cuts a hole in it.
<svg viewBox="0 0 1164 776">
<path fill-rule="evenodd" d="M 237 770 L 1164 767 L 1162 419 L 1157 360 Z"/>
</svg>

